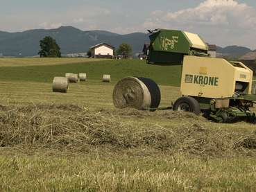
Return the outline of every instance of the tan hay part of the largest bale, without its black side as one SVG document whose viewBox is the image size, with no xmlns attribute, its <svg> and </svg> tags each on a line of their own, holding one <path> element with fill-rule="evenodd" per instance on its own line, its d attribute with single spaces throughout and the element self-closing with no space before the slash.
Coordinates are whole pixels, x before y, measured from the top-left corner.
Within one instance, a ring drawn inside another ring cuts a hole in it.
<svg viewBox="0 0 256 192">
<path fill-rule="evenodd" d="M 148 87 L 135 77 L 127 77 L 119 80 L 113 91 L 114 107 L 123 109 L 132 107 L 137 110 L 145 110 L 151 107 L 151 94 Z"/>
</svg>

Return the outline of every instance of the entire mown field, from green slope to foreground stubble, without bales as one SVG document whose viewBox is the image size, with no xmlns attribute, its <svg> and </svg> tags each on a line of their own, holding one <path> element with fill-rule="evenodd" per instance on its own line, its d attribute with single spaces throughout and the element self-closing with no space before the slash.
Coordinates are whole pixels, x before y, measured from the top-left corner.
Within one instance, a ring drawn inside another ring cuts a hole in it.
<svg viewBox="0 0 256 192">
<path fill-rule="evenodd" d="M 53 77 L 66 72 L 88 80 L 53 93 Z M 0 59 L 0 191 L 255 191 L 255 125 L 114 109 L 125 76 L 153 78 L 161 106 L 179 96 L 180 67 Z"/>
</svg>

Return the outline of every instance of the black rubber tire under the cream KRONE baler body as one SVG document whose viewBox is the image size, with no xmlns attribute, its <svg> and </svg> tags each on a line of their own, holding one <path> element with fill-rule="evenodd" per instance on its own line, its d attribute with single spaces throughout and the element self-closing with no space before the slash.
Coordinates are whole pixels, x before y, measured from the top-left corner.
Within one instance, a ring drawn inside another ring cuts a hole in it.
<svg viewBox="0 0 256 192">
<path fill-rule="evenodd" d="M 192 112 L 196 115 L 199 115 L 201 112 L 198 101 L 196 101 L 196 99 L 193 97 L 183 96 L 178 98 L 177 101 L 173 104 L 173 110 L 178 111 L 178 108 L 181 105 L 187 105 L 189 107 L 189 109 L 184 110 L 185 112 Z"/>
</svg>

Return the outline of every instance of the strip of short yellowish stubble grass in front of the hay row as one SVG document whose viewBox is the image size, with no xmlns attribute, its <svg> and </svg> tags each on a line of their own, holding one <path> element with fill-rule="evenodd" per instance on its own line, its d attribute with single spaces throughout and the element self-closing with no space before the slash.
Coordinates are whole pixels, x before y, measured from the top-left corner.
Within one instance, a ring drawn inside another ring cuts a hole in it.
<svg viewBox="0 0 256 192">
<path fill-rule="evenodd" d="M 99 149 L 100 150 L 100 149 Z M 255 191 L 256 160 L 183 155 L 0 156 L 1 191 Z"/>
</svg>

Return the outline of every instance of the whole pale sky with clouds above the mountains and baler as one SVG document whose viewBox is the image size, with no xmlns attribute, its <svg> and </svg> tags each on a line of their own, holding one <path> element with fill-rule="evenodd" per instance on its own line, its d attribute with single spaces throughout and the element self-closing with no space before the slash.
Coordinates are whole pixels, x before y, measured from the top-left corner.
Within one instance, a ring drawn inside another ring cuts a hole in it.
<svg viewBox="0 0 256 192">
<path fill-rule="evenodd" d="M 74 26 L 119 34 L 169 28 L 256 49 L 255 0 L 0 0 L 0 30 Z"/>
</svg>

